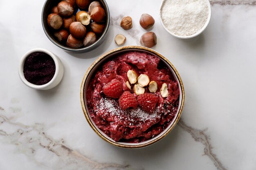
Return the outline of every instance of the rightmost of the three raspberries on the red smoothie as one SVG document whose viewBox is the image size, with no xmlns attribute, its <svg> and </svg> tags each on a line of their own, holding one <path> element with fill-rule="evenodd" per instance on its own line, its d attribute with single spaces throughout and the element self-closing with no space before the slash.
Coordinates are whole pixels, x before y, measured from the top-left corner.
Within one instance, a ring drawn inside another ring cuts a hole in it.
<svg viewBox="0 0 256 170">
<path fill-rule="evenodd" d="M 138 104 L 143 110 L 149 113 L 154 113 L 155 106 L 158 102 L 158 97 L 153 93 L 144 93 L 137 97 Z"/>
</svg>

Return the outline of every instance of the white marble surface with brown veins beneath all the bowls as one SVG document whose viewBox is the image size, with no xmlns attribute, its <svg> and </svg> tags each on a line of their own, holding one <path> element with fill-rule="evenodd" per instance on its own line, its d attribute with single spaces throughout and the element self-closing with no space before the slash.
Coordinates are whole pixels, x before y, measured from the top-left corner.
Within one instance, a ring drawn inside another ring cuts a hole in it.
<svg viewBox="0 0 256 170">
<path fill-rule="evenodd" d="M 84 54 L 67 53 L 50 42 L 41 26 L 44 0 L 0 1 L 0 170 L 255 170 L 256 1 L 212 0 L 207 29 L 193 40 L 173 38 L 162 28 L 160 0 L 107 0 L 112 26 L 104 44 Z M 145 32 L 141 13 L 151 14 L 153 47 L 179 71 L 185 87 L 182 119 L 153 146 L 127 150 L 103 141 L 88 125 L 79 91 L 88 66 L 116 48 L 137 45 Z M 121 16 L 133 28 L 119 27 Z M 36 91 L 18 77 L 18 63 L 41 47 L 65 66 L 61 84 Z"/>
</svg>

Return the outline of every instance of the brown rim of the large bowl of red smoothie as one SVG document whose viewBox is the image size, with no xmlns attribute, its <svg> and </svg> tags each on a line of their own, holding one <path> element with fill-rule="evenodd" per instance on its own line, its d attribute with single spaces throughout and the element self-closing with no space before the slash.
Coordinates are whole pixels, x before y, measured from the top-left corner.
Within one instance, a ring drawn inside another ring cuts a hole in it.
<svg viewBox="0 0 256 170">
<path fill-rule="evenodd" d="M 110 139 L 106 138 L 105 136 L 103 136 L 101 134 L 101 132 L 99 132 L 99 130 L 94 126 L 92 120 L 90 119 L 90 115 L 88 114 L 87 110 L 86 110 L 86 104 L 85 104 L 85 81 L 88 77 L 88 75 L 90 74 L 90 72 L 92 71 L 92 69 L 94 68 L 94 66 L 96 66 L 101 60 L 103 60 L 105 57 L 107 57 L 108 55 L 111 55 L 113 53 L 116 53 L 116 52 L 120 52 L 120 51 L 124 51 L 124 50 L 142 50 L 142 51 L 146 51 L 146 52 L 149 52 L 149 53 L 153 53 L 154 55 L 156 55 L 157 57 L 160 57 L 162 60 L 164 60 L 172 69 L 173 69 L 173 72 L 175 73 L 175 75 L 177 76 L 177 80 L 179 81 L 180 83 L 180 87 L 181 87 L 181 93 L 182 93 L 182 99 L 181 99 L 181 105 L 180 105 L 180 109 L 179 111 L 177 112 L 177 117 L 176 119 L 173 121 L 173 124 L 168 127 L 168 130 L 166 132 L 164 132 L 164 134 L 162 134 L 161 136 L 157 137 L 156 139 L 153 139 L 152 141 L 148 142 L 148 143 L 145 143 L 145 144 L 138 144 L 138 145 L 129 145 L 129 143 L 127 144 L 119 144 L 117 142 L 114 142 L 114 141 L 111 141 Z M 177 72 L 176 68 L 173 66 L 173 64 L 171 64 L 171 62 L 169 60 L 167 60 L 163 55 L 159 54 L 158 52 L 152 50 L 152 49 L 149 49 L 149 48 L 146 48 L 146 47 L 143 47 L 143 46 L 122 46 L 122 47 L 119 47 L 119 48 L 116 48 L 116 49 L 112 49 L 106 53 L 104 53 L 103 55 L 101 55 L 99 58 L 97 58 L 97 60 L 95 60 L 92 65 L 88 68 L 88 70 L 86 71 L 84 77 L 83 77 L 83 80 L 82 80 L 82 84 L 81 84 L 81 89 L 80 89 L 80 100 L 81 100 L 81 106 L 82 106 L 82 109 L 83 109 L 83 113 L 85 115 L 85 118 L 87 119 L 89 125 L 91 126 L 91 128 L 105 141 L 107 141 L 108 143 L 114 145 L 114 146 L 118 146 L 118 147 L 121 147 L 121 148 L 144 148 L 146 146 L 149 146 L 151 144 L 154 144 L 156 143 L 157 141 L 163 139 L 166 135 L 168 135 L 169 132 L 171 132 L 171 130 L 173 130 L 173 128 L 175 127 L 175 125 L 177 124 L 178 120 L 180 119 L 180 116 L 181 116 L 181 113 L 182 113 L 182 110 L 183 110 L 183 106 L 184 106 L 184 99 L 185 99 L 185 93 L 184 93 L 184 86 L 183 86 L 183 83 L 182 83 L 182 79 L 179 75 L 179 73 Z"/>
</svg>

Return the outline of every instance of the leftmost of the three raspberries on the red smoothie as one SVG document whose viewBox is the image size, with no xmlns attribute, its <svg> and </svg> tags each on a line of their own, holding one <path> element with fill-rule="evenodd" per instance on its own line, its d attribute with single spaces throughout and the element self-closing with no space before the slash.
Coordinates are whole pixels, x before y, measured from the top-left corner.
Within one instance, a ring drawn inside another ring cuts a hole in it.
<svg viewBox="0 0 256 170">
<path fill-rule="evenodd" d="M 123 86 L 117 79 L 112 79 L 102 87 L 102 90 L 107 97 L 116 99 L 123 93 Z"/>
</svg>

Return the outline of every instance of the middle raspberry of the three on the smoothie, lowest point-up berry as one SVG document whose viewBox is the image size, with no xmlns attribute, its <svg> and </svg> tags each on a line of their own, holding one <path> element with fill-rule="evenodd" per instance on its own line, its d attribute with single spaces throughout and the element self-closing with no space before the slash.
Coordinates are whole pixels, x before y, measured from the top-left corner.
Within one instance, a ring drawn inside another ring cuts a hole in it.
<svg viewBox="0 0 256 170">
<path fill-rule="evenodd" d="M 121 109 L 125 110 L 130 107 L 137 108 L 138 102 L 132 93 L 125 91 L 119 98 L 119 105 Z"/>
</svg>

